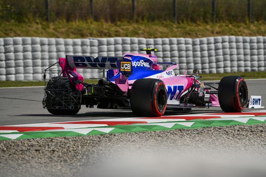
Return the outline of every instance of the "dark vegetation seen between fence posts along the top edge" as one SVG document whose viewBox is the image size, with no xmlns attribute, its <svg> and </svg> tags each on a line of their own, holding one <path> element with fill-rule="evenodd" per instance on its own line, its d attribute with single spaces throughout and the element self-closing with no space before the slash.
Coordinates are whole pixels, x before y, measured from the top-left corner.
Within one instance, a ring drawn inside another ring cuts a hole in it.
<svg viewBox="0 0 266 177">
<path fill-rule="evenodd" d="M 23 22 L 45 19 L 46 0 L 0 0 L 0 19 Z M 213 0 L 175 0 L 178 22 L 211 22 Z M 132 0 L 94 0 L 94 19 L 132 21 Z M 216 0 L 216 21 L 246 22 L 247 0 Z M 135 0 L 136 21 L 174 20 L 173 0 Z M 251 21 L 266 19 L 266 1 L 251 0 Z M 50 21 L 90 19 L 90 0 L 50 0 Z"/>
</svg>

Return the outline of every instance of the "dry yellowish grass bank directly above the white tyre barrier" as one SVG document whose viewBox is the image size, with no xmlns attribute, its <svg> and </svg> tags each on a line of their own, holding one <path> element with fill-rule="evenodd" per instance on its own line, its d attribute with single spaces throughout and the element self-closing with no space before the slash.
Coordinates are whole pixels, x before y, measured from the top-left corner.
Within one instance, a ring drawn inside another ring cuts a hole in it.
<svg viewBox="0 0 266 177">
<path fill-rule="evenodd" d="M 173 23 L 155 22 L 1 22 L 0 37 L 208 37 L 208 36 L 265 36 L 266 22 L 254 23 Z"/>
</svg>

